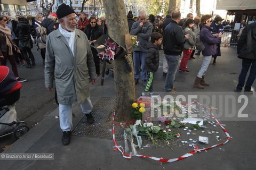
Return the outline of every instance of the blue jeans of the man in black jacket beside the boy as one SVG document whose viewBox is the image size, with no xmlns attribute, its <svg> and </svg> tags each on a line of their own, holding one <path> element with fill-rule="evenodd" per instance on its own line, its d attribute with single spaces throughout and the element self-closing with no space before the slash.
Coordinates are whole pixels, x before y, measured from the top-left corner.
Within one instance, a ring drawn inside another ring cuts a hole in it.
<svg viewBox="0 0 256 170">
<path fill-rule="evenodd" d="M 175 75 L 177 73 L 177 68 L 179 65 L 180 61 L 180 56 L 179 55 L 166 55 L 165 58 L 168 64 L 168 72 L 166 75 L 166 79 L 164 82 L 164 90 L 165 91 L 171 91 L 173 89 L 173 82 L 175 79 Z"/>
</svg>

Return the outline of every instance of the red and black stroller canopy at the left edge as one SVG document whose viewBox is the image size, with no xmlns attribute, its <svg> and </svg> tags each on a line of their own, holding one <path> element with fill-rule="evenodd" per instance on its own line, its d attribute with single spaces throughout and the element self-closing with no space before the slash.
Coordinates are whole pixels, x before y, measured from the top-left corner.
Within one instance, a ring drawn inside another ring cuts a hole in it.
<svg viewBox="0 0 256 170">
<path fill-rule="evenodd" d="M 0 66 L 0 96 L 3 97 L 21 87 L 21 83 L 17 81 L 12 71 L 6 66 Z"/>
</svg>

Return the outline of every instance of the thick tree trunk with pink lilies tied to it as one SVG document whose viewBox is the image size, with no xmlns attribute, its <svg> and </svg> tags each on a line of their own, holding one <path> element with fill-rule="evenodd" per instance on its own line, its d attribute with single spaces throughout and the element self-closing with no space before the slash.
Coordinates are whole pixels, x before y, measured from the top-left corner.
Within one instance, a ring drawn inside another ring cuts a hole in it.
<svg viewBox="0 0 256 170">
<path fill-rule="evenodd" d="M 118 45 L 125 47 L 125 35 L 129 33 L 129 27 L 124 1 L 103 0 L 103 5 L 108 22 L 109 37 Z M 125 57 L 132 66 L 130 73 L 126 73 L 124 70 Z M 132 55 L 121 56 L 113 63 L 117 120 L 130 120 L 131 105 L 136 100 Z"/>
</svg>

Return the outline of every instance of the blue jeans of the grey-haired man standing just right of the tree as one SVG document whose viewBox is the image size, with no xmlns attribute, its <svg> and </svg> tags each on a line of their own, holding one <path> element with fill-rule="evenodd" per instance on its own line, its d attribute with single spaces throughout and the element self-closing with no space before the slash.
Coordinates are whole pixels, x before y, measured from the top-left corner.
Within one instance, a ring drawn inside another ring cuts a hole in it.
<svg viewBox="0 0 256 170">
<path fill-rule="evenodd" d="M 133 52 L 133 65 L 134 65 L 134 79 L 140 78 L 140 64 L 141 64 L 141 80 L 147 80 L 147 71 L 145 69 L 147 53 Z"/>
</svg>

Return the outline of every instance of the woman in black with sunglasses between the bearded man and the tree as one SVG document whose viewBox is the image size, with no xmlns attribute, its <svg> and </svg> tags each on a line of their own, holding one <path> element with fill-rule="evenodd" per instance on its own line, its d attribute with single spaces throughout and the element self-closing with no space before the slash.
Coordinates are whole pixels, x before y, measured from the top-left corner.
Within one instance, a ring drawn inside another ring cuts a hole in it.
<svg viewBox="0 0 256 170">
<path fill-rule="evenodd" d="M 98 52 L 95 49 L 93 43 L 103 35 L 103 30 L 102 28 L 97 24 L 97 19 L 95 16 L 91 16 L 89 19 L 89 24 L 86 25 L 84 32 L 91 44 L 91 50 L 94 58 L 94 63 L 95 63 L 95 69 L 96 69 L 96 74 L 97 77 L 100 75 L 100 57 L 98 56 Z"/>
</svg>

